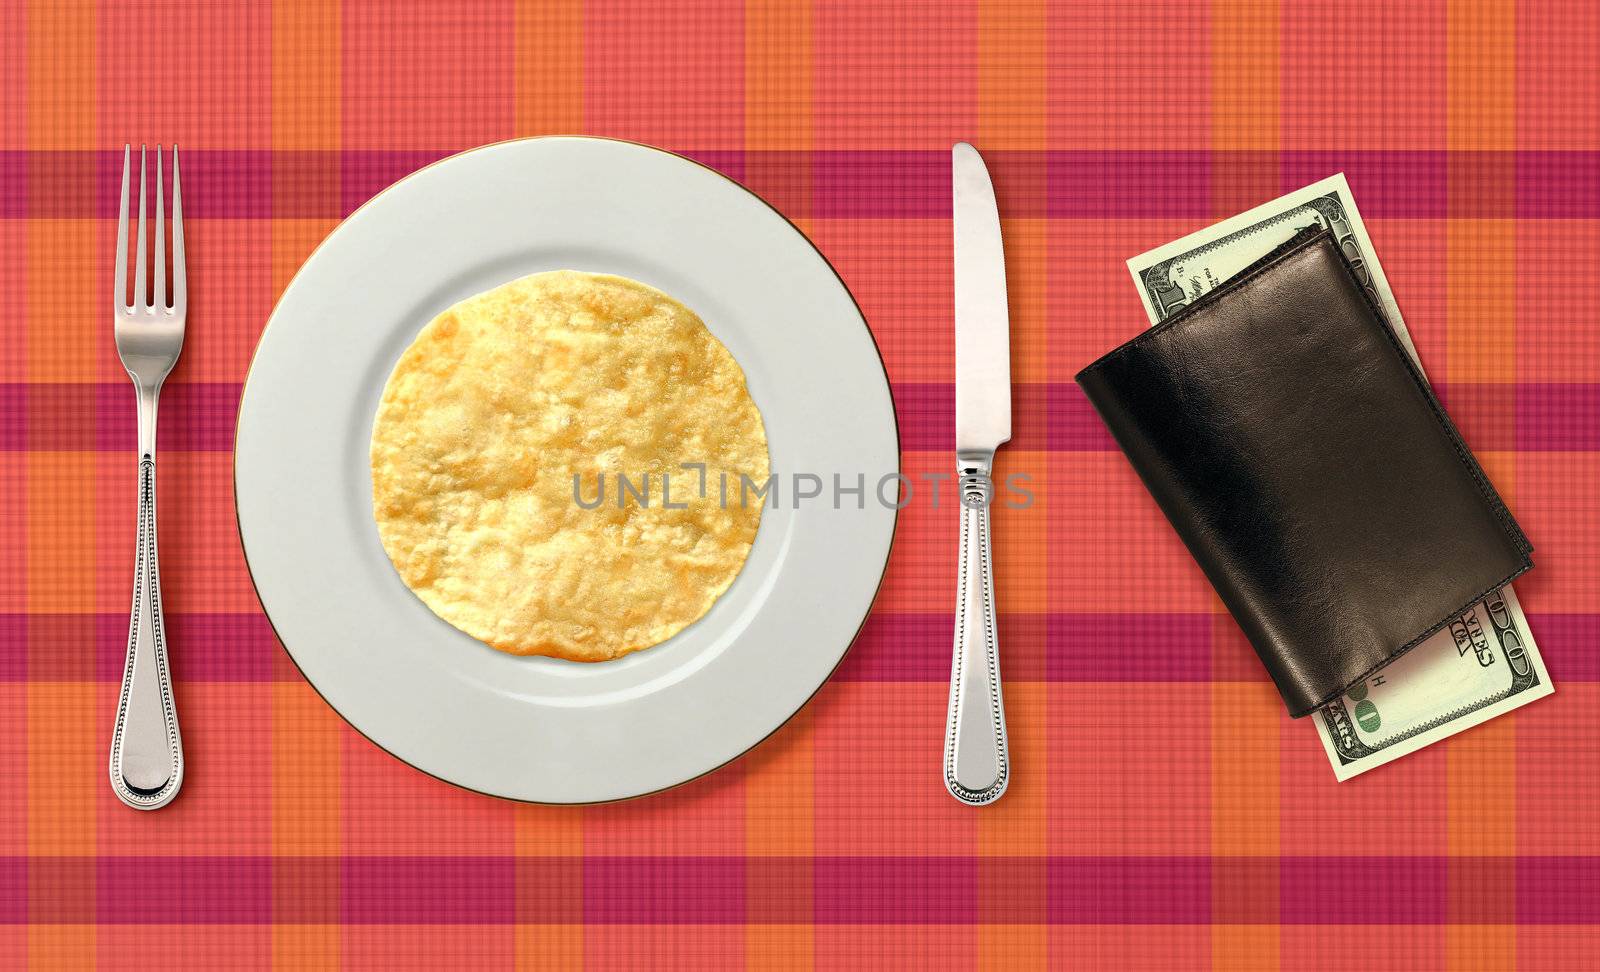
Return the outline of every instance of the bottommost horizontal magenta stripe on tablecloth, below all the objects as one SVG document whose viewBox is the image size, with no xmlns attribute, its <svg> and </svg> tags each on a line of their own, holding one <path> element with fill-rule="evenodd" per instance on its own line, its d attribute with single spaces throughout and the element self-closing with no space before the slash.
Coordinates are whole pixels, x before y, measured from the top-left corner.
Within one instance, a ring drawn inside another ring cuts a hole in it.
<svg viewBox="0 0 1600 972">
<path fill-rule="evenodd" d="M 1448 924 L 1453 865 L 1501 858 L 1365 857 L 816 857 L 811 900 L 766 902 L 763 919 L 818 924 L 971 924 L 982 889 L 1030 905 L 1046 924 L 1205 924 L 1213 882 L 1261 881 L 1283 924 Z M 1515 916 L 1528 924 L 1600 921 L 1600 857 L 1517 857 Z M 581 862 L 581 863 L 579 863 Z M 352 924 L 570 922 L 574 908 L 518 913 L 518 881 L 576 876 L 594 924 L 739 924 L 747 918 L 744 857 L 5 857 L 0 924 L 254 924 L 274 918 L 274 881 L 326 890 L 290 903 L 310 921 Z M 326 886 L 338 868 L 338 890 Z M 304 881 L 306 874 L 317 879 Z M 518 879 L 518 874 L 523 874 Z M 541 878 L 542 876 L 542 878 Z M 30 913 L 22 886 L 58 894 Z M 160 889 L 158 892 L 152 889 Z M 1230 887 L 1245 897 L 1248 887 Z M 310 894 L 310 890 L 307 890 Z M 1026 898 L 1026 900 L 1024 900 Z M 334 905 L 336 900 L 336 905 Z M 784 908 L 794 910 L 786 914 Z M 334 914 L 336 911 L 336 914 Z M 1475 921 L 1475 919 L 1472 919 Z"/>
</svg>

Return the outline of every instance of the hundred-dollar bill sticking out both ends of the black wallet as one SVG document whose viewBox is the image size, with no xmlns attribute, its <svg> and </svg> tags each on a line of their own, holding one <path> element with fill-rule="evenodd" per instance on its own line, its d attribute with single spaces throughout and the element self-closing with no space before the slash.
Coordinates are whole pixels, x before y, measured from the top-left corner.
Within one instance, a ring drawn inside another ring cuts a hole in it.
<svg viewBox="0 0 1600 972">
<path fill-rule="evenodd" d="M 1326 227 L 1422 369 L 1344 174 L 1330 176 L 1128 261 L 1150 323 L 1221 286 L 1302 229 Z M 1426 371 L 1424 371 L 1426 374 Z M 1555 691 L 1510 585 L 1486 596 L 1312 719 L 1339 780 Z"/>
</svg>

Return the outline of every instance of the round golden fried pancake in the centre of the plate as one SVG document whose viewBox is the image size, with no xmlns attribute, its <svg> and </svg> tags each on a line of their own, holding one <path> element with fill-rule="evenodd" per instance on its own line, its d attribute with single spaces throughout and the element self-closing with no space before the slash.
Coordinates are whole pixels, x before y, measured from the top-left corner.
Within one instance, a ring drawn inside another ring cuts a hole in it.
<svg viewBox="0 0 1600 972">
<path fill-rule="evenodd" d="M 706 464 L 704 496 L 683 464 Z M 422 328 L 384 387 L 371 468 L 384 550 L 438 617 L 499 651 L 603 662 L 728 590 L 762 518 L 738 484 L 763 483 L 768 457 L 744 371 L 694 312 L 557 270 Z M 619 489 L 646 475 L 645 502 Z"/>
</svg>

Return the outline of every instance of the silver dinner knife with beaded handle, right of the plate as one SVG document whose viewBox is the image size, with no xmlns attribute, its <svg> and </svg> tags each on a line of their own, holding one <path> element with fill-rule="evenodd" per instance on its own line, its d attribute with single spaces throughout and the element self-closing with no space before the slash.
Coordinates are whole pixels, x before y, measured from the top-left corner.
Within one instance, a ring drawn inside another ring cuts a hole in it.
<svg viewBox="0 0 1600 972">
<path fill-rule="evenodd" d="M 978 149 L 966 142 L 950 149 L 950 185 L 955 195 L 955 470 L 962 553 L 944 785 L 955 799 L 982 806 L 1000 799 L 1011 775 L 989 558 L 989 508 L 995 492 L 990 472 L 995 449 L 1011 438 L 1011 318 L 995 189 Z"/>
</svg>

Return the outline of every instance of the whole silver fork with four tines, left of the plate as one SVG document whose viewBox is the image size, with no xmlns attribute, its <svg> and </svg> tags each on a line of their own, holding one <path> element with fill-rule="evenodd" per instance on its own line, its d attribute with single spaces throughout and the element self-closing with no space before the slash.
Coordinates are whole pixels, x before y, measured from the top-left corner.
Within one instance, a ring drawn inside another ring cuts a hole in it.
<svg viewBox="0 0 1600 972">
<path fill-rule="evenodd" d="M 155 404 L 162 382 L 184 347 L 189 288 L 184 283 L 184 203 L 178 192 L 173 145 L 173 302 L 166 304 L 166 233 L 162 227 L 162 147 L 155 147 L 154 297 L 146 288 L 144 145 L 139 145 L 139 243 L 128 301 L 128 173 L 133 149 L 122 150 L 122 214 L 117 219 L 114 318 L 117 353 L 139 398 L 139 529 L 133 556 L 133 619 L 122 673 L 117 727 L 110 739 L 110 785 L 122 803 L 141 811 L 166 806 L 184 782 L 184 745 L 178 735 L 173 679 L 162 625 L 162 576 L 155 555 Z"/>
</svg>

